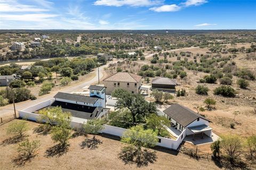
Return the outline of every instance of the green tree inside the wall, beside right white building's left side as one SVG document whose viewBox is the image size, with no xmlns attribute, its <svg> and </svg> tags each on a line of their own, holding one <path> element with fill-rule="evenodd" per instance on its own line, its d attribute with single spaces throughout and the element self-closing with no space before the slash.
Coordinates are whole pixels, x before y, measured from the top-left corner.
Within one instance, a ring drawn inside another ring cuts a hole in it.
<svg viewBox="0 0 256 170">
<path fill-rule="evenodd" d="M 147 117 L 147 126 L 157 132 L 157 135 L 162 135 L 166 131 L 165 126 L 170 126 L 170 121 L 164 116 L 158 116 L 157 114 L 151 114 Z"/>
</svg>

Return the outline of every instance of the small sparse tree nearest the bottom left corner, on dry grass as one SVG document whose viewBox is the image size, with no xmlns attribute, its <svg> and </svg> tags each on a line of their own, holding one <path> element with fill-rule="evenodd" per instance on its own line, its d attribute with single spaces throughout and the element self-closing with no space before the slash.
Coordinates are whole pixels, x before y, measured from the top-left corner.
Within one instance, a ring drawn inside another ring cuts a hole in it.
<svg viewBox="0 0 256 170">
<path fill-rule="evenodd" d="M 25 156 L 27 159 L 33 157 L 36 154 L 36 151 L 40 147 L 39 140 L 29 141 L 28 139 L 19 143 L 18 152 L 21 156 Z"/>
</svg>

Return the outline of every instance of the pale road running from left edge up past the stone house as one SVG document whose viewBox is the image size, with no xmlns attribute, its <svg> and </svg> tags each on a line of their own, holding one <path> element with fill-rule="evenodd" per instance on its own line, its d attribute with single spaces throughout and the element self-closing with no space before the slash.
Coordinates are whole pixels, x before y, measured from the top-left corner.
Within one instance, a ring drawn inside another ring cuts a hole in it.
<svg viewBox="0 0 256 170">
<path fill-rule="evenodd" d="M 114 61 L 113 63 L 115 63 L 115 62 L 117 62 L 117 61 Z M 100 79 L 103 78 L 103 68 L 107 67 L 107 65 L 102 65 L 99 67 Z M 67 88 L 60 89 L 59 91 L 73 92 L 73 91 L 81 89 L 85 86 L 89 86 L 90 84 L 97 83 L 98 82 L 98 68 L 95 69 L 93 72 L 95 72 L 95 76 L 91 80 L 85 81 L 83 83 L 75 84 L 74 86 L 69 86 Z M 57 93 L 57 91 L 56 91 L 56 93 Z M 27 101 L 23 101 L 21 103 L 17 103 L 17 104 L 15 104 L 16 113 L 18 113 L 18 111 L 20 111 L 22 109 L 27 108 L 28 106 L 33 106 L 38 103 L 41 103 L 42 101 L 52 99 L 54 95 L 55 95 L 55 93 L 47 94 L 47 95 L 43 96 L 42 98 L 38 98 L 36 100 L 27 100 Z M 8 114 L 14 114 L 13 104 L 10 104 L 10 105 L 4 106 L 4 107 L 0 107 L 0 116 L 8 115 Z"/>
</svg>

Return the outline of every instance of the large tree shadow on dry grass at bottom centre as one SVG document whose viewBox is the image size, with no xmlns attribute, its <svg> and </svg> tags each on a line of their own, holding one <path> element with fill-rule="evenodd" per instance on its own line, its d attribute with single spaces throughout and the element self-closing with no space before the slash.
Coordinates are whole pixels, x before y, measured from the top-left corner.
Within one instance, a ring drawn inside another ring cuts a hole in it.
<svg viewBox="0 0 256 170">
<path fill-rule="evenodd" d="M 141 151 L 135 150 L 133 147 L 124 147 L 119 154 L 119 158 L 124 164 L 136 164 L 138 167 L 148 166 L 149 163 L 156 162 L 156 151 L 149 151 L 143 149 Z"/>
</svg>

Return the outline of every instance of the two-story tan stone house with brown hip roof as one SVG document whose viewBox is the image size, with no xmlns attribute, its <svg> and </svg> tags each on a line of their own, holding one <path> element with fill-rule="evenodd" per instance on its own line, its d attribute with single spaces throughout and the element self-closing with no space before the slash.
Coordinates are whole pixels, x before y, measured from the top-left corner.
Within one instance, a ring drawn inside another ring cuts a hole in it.
<svg viewBox="0 0 256 170">
<path fill-rule="evenodd" d="M 115 89 L 125 89 L 133 94 L 139 93 L 141 87 L 141 76 L 128 73 L 117 72 L 103 80 L 106 89 L 106 95 L 111 95 Z"/>
</svg>

